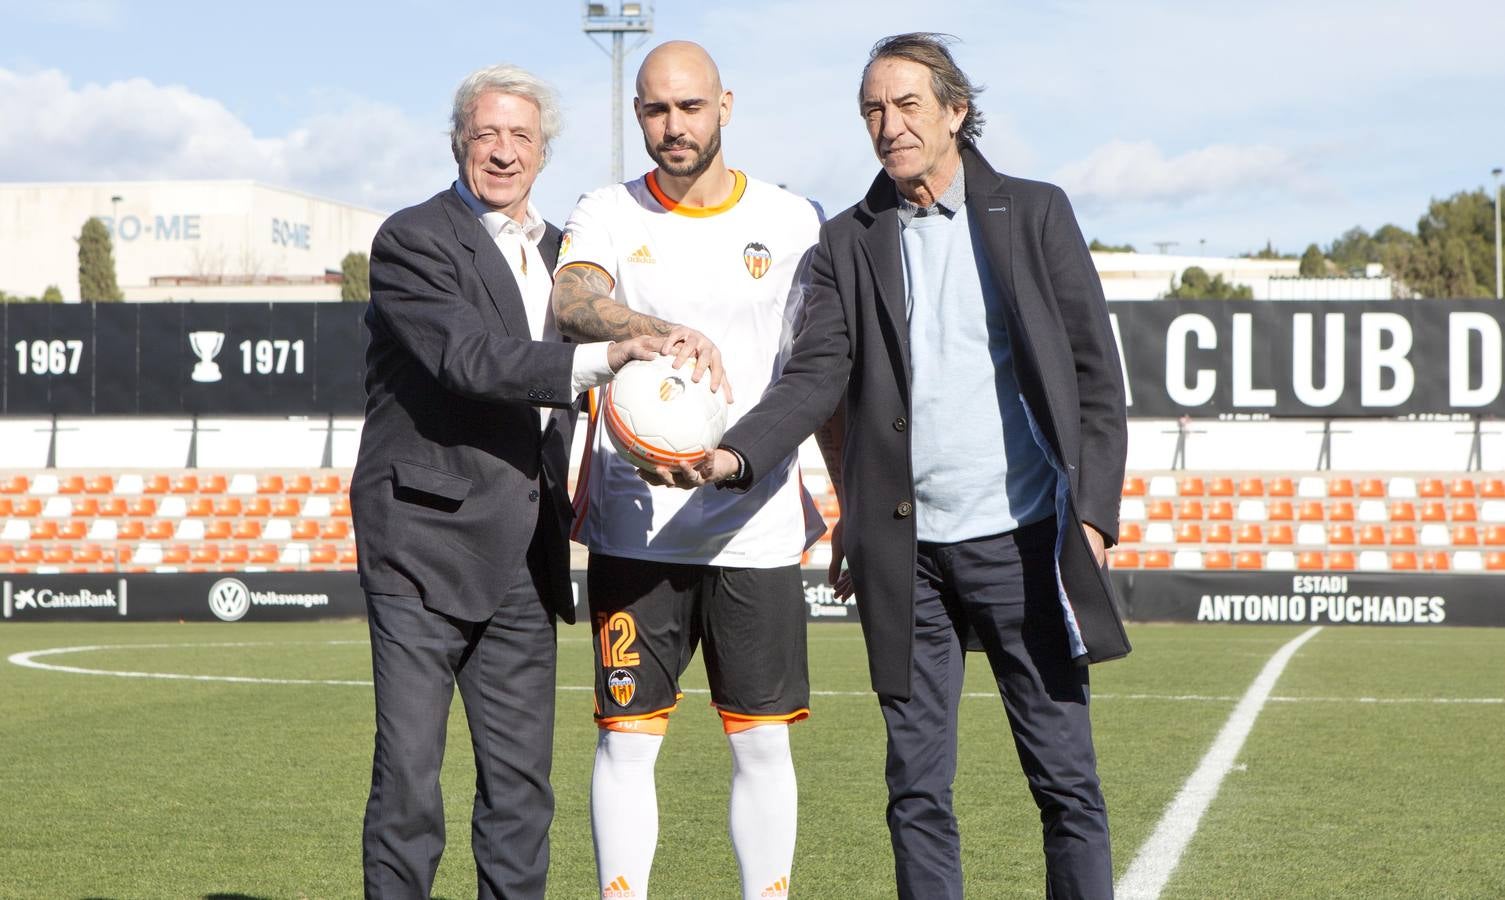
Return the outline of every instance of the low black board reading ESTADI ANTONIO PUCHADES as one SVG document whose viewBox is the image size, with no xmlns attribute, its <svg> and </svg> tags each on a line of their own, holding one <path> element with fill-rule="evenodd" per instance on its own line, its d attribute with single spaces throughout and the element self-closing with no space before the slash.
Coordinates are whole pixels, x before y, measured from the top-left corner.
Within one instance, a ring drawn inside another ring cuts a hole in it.
<svg viewBox="0 0 1505 900">
<path fill-rule="evenodd" d="M 1505 625 L 1505 578 L 1397 572 L 1115 572 L 1133 622 Z"/>
</svg>

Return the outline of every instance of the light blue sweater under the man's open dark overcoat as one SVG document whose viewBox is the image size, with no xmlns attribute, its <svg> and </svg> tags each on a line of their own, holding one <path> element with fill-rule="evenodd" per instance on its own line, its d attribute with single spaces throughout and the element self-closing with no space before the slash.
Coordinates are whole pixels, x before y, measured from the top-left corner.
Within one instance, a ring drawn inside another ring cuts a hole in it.
<svg viewBox="0 0 1505 900">
<path fill-rule="evenodd" d="M 954 543 L 1049 518 L 1055 470 L 1031 433 L 1002 296 L 966 205 L 912 218 L 900 239 L 920 540 Z"/>
</svg>

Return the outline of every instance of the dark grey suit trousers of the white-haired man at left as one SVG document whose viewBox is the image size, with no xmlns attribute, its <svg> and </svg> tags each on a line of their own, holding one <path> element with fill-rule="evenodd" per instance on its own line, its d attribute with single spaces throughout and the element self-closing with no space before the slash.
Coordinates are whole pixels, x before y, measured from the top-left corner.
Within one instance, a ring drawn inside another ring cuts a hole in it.
<svg viewBox="0 0 1505 900">
<path fill-rule="evenodd" d="M 418 597 L 369 593 L 366 608 L 376 682 L 366 895 L 429 897 L 444 850 L 439 765 L 458 682 L 476 754 L 477 897 L 542 898 L 554 819 L 555 635 L 536 576 L 521 572 L 486 622 L 433 613 Z"/>
</svg>

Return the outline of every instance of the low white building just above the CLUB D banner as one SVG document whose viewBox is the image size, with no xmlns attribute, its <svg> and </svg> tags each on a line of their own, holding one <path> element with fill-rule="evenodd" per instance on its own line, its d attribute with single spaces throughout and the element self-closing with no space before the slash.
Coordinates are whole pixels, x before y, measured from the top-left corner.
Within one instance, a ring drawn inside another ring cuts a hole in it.
<svg viewBox="0 0 1505 900">
<path fill-rule="evenodd" d="M 1209 277 L 1222 275 L 1230 284 L 1248 286 L 1254 299 L 1391 299 L 1394 295 L 1394 281 L 1379 266 L 1371 266 L 1364 278 L 1303 278 L 1294 259 L 1100 251 L 1093 253 L 1093 265 L 1108 299 L 1157 299 L 1190 266 L 1201 266 Z"/>
</svg>

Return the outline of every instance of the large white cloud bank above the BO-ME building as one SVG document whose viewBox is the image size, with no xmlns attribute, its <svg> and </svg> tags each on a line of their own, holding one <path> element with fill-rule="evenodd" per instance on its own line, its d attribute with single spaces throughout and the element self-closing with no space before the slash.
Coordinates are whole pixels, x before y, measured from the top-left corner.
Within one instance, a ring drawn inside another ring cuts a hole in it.
<svg viewBox="0 0 1505 900">
<path fill-rule="evenodd" d="M 283 135 L 256 135 L 215 99 L 144 78 L 74 86 L 0 69 L 0 179 L 256 179 L 396 209 L 453 172 L 439 125 L 355 101 Z"/>
</svg>

